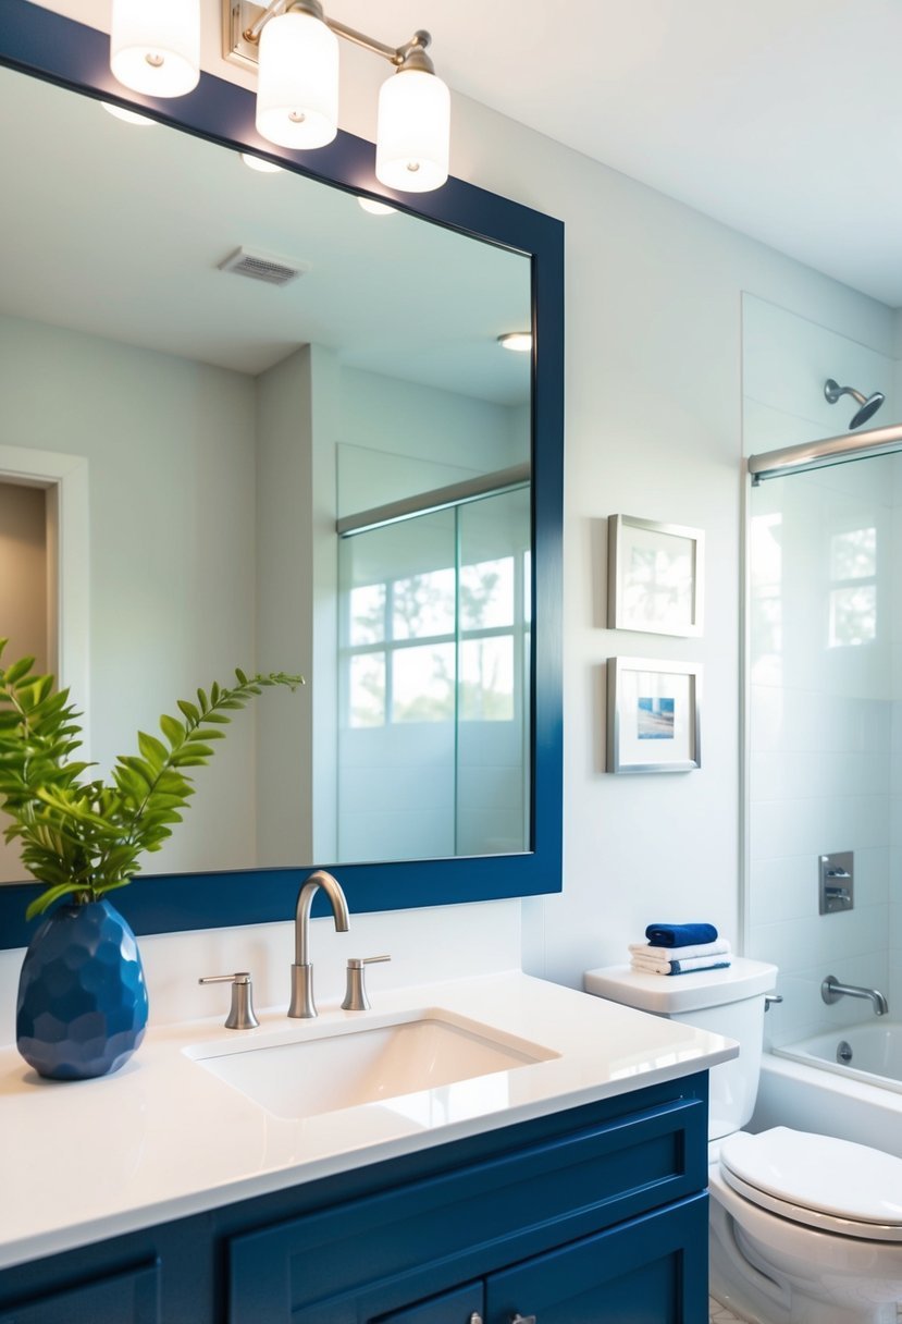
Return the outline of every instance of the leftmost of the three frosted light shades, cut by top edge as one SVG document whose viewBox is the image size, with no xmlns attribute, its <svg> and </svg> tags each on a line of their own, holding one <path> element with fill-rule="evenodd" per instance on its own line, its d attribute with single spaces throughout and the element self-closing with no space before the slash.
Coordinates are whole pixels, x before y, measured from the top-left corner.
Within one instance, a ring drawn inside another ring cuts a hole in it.
<svg viewBox="0 0 902 1324">
<path fill-rule="evenodd" d="M 112 0 L 110 69 L 132 91 L 184 97 L 201 75 L 200 0 Z"/>
</svg>

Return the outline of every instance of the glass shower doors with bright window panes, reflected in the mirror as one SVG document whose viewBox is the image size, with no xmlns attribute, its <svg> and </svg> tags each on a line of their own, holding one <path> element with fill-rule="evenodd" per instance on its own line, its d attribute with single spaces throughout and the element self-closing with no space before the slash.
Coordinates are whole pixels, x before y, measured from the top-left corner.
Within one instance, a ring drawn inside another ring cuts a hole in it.
<svg viewBox="0 0 902 1324">
<path fill-rule="evenodd" d="M 529 849 L 529 493 L 343 538 L 337 861 Z"/>
</svg>

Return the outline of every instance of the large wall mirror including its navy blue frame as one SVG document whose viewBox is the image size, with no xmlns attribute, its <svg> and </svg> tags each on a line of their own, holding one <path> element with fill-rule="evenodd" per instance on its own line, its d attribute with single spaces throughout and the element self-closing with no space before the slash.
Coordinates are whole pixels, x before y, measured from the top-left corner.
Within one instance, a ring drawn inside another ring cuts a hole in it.
<svg viewBox="0 0 902 1324">
<path fill-rule="evenodd" d="M 315 866 L 362 911 L 558 890 L 562 228 L 455 180 L 413 209 L 348 135 L 265 146 L 209 75 L 126 123 L 103 34 L 9 9 L 7 661 L 71 686 L 102 771 L 235 666 L 307 678 L 235 719 L 123 911 L 287 918 Z M 3 945 L 21 879 L 0 853 Z"/>
</svg>

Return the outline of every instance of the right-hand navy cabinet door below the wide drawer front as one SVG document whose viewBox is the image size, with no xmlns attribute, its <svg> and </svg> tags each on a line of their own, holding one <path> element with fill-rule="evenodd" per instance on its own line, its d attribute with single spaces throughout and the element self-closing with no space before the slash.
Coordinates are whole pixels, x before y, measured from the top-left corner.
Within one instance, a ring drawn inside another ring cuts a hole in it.
<svg viewBox="0 0 902 1324">
<path fill-rule="evenodd" d="M 708 1197 L 492 1274 L 485 1324 L 706 1324 Z"/>
</svg>

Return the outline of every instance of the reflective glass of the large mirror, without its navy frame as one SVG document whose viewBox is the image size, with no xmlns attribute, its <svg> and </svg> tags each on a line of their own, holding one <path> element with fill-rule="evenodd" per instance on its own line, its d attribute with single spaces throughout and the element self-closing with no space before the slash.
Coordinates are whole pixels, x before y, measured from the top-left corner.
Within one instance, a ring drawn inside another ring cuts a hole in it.
<svg viewBox="0 0 902 1324">
<path fill-rule="evenodd" d="M 86 463 L 90 756 L 235 666 L 308 682 L 237 715 L 145 871 L 528 850 L 529 258 L 9 69 L 0 105 L 0 445 Z"/>
</svg>

